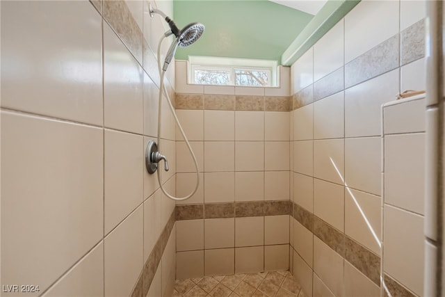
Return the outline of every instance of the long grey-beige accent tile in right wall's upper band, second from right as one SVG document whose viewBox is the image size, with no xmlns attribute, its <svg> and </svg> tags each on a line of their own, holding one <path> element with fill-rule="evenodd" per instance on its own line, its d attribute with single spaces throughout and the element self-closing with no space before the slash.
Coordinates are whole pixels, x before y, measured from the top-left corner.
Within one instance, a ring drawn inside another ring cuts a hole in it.
<svg viewBox="0 0 445 297">
<path fill-rule="evenodd" d="M 399 35 L 394 35 L 345 65 L 345 88 L 355 86 L 398 67 Z"/>
</svg>

